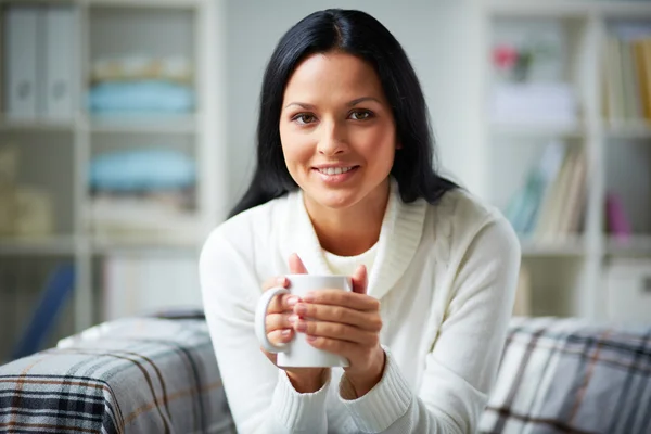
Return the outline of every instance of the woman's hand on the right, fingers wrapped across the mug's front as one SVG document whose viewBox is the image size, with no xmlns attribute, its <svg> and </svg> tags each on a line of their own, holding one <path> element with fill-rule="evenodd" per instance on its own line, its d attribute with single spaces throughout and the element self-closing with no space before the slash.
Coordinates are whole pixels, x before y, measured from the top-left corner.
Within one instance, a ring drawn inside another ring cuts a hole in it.
<svg viewBox="0 0 651 434">
<path fill-rule="evenodd" d="M 311 346 L 348 359 L 346 378 L 357 397 L 380 382 L 385 361 L 380 346 L 380 302 L 366 294 L 367 283 L 366 267 L 359 266 L 353 276 L 353 292 L 311 292 L 294 306 L 296 315 L 291 318 L 294 329 L 307 334 Z"/>
</svg>

